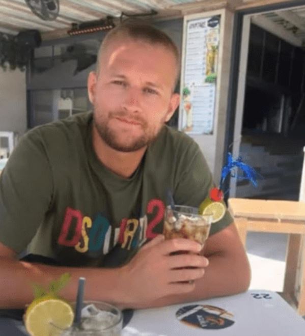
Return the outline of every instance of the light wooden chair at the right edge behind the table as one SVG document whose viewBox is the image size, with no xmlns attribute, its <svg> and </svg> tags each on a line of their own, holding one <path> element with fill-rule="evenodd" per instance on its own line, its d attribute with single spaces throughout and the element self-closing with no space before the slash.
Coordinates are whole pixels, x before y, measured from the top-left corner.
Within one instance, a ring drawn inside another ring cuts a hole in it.
<svg viewBox="0 0 305 336">
<path fill-rule="evenodd" d="M 283 296 L 305 315 L 305 203 L 231 198 L 228 204 L 244 245 L 248 231 L 289 235 Z"/>
</svg>

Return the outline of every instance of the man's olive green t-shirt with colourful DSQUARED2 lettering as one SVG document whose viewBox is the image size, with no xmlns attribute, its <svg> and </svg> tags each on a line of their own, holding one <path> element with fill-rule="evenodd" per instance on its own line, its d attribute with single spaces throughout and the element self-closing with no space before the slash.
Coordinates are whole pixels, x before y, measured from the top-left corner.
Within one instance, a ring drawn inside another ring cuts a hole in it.
<svg viewBox="0 0 305 336">
<path fill-rule="evenodd" d="M 92 146 L 92 113 L 42 125 L 0 175 L 0 241 L 66 266 L 115 267 L 162 232 L 168 190 L 198 207 L 212 187 L 199 146 L 164 126 L 132 177 L 110 172 Z M 229 212 L 210 234 L 233 221 Z"/>
</svg>

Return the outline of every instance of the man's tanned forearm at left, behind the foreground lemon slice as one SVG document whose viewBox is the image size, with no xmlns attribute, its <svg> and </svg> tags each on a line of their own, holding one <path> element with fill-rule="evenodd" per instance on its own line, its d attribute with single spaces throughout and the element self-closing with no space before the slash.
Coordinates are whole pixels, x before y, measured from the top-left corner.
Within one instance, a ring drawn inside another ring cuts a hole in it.
<svg viewBox="0 0 305 336">
<path fill-rule="evenodd" d="M 60 295 L 68 301 L 75 301 L 78 278 L 86 277 L 85 299 L 101 300 L 117 306 L 128 305 L 126 295 L 120 292 L 120 269 L 58 267 L 20 262 L 11 258 L 0 258 L 0 308 L 23 308 L 33 296 L 32 285 L 47 287 L 51 280 L 69 272 L 71 279 Z"/>
</svg>

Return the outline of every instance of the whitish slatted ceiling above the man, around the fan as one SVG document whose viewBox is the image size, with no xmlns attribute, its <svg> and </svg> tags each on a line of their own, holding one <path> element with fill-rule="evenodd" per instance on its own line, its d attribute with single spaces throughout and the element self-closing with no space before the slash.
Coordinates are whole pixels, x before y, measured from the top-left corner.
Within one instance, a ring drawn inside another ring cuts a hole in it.
<svg viewBox="0 0 305 336">
<path fill-rule="evenodd" d="M 38 0 L 36 0 L 38 2 Z M 217 3 L 218 0 L 214 0 Z M 25 0 L 0 0 L 0 32 L 17 34 L 24 29 L 37 29 L 41 33 L 70 29 L 73 22 L 80 23 L 105 18 L 119 18 L 122 12 L 144 14 L 151 10 L 168 13 L 193 4 L 211 3 L 210 0 L 60 0 L 60 13 L 54 21 L 44 21 L 34 15 Z M 183 7 L 184 6 L 184 7 Z"/>
</svg>

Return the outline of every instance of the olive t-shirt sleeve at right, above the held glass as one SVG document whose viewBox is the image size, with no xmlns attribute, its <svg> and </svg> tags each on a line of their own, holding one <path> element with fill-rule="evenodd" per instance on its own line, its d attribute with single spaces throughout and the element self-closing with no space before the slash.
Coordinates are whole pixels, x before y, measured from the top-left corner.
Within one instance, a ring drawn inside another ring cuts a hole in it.
<svg viewBox="0 0 305 336">
<path fill-rule="evenodd" d="M 179 178 L 174 190 L 175 203 L 199 207 L 209 195 L 211 188 L 215 186 L 212 174 L 197 144 L 191 144 L 184 153 L 181 153 L 181 156 L 186 164 L 179 167 Z M 224 229 L 232 222 L 233 218 L 227 209 L 223 218 L 212 223 L 210 235 Z"/>
</svg>

